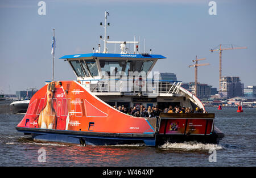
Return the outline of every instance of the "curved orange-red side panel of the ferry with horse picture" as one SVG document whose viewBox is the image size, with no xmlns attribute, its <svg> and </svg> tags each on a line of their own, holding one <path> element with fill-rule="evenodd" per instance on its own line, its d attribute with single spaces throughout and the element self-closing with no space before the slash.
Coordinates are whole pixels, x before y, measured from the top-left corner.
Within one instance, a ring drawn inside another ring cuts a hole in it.
<svg viewBox="0 0 256 178">
<path fill-rule="evenodd" d="M 102 133 L 155 132 L 145 118 L 117 111 L 75 81 L 51 82 L 36 92 L 18 127 Z"/>
</svg>

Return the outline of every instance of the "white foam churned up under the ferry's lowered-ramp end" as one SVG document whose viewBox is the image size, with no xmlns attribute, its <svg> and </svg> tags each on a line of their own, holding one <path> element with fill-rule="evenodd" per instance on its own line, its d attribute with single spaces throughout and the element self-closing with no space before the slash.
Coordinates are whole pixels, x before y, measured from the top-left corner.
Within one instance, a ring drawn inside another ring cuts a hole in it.
<svg viewBox="0 0 256 178">
<path fill-rule="evenodd" d="M 166 142 L 159 146 L 161 149 L 181 149 L 181 150 L 220 150 L 222 146 L 210 143 L 198 142 L 184 142 L 184 143 L 170 143 Z"/>
</svg>

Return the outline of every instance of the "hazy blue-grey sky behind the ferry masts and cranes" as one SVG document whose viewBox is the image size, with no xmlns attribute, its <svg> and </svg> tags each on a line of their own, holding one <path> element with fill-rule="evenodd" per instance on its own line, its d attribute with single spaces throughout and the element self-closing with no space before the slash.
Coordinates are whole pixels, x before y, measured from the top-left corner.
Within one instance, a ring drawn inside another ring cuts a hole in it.
<svg viewBox="0 0 256 178">
<path fill-rule="evenodd" d="M 45 0 L 46 15 L 39 15 L 37 0 L 0 0 L 0 92 L 44 86 L 52 79 L 52 29 L 55 28 L 55 80 L 75 80 L 70 65 L 60 57 L 92 53 L 104 36 L 104 13 L 108 11 L 107 35 L 112 41 L 140 37 L 141 52 L 162 54 L 153 71 L 175 73 L 177 80 L 193 82 L 192 60 L 207 58 L 198 69 L 198 82 L 218 88 L 218 52 L 210 49 L 247 46 L 222 52 L 222 76 L 240 77 L 256 86 L 256 1 L 216 2 L 209 14 L 208 0 Z M 101 42 L 102 46 L 103 43 Z M 133 50 L 133 46 L 127 45 Z M 109 44 L 109 53 L 114 45 Z M 117 46 L 118 49 L 118 46 Z"/>
</svg>

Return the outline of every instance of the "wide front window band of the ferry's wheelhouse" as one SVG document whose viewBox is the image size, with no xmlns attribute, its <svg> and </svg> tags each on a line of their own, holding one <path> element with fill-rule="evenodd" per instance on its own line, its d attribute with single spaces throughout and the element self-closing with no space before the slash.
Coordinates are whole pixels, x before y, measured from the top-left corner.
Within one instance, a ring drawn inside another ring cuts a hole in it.
<svg viewBox="0 0 256 178">
<path fill-rule="evenodd" d="M 109 75 L 115 75 L 119 71 L 123 71 L 129 75 L 129 71 L 148 72 L 154 63 L 153 60 L 100 60 L 101 71 L 105 71 Z"/>
</svg>

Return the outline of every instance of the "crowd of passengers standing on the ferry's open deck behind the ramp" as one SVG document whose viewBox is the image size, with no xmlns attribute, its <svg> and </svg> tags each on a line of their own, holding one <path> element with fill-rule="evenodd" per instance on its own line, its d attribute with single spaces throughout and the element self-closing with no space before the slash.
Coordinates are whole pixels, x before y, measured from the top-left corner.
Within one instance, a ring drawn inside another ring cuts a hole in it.
<svg viewBox="0 0 256 178">
<path fill-rule="evenodd" d="M 155 107 L 148 106 L 148 108 L 146 109 L 143 105 L 141 105 L 141 107 L 139 109 L 137 109 L 136 107 L 127 109 L 124 105 L 121 105 L 117 108 L 115 107 L 115 105 L 113 106 L 115 109 L 117 109 L 120 112 L 126 113 L 127 115 L 131 115 L 131 116 L 135 116 L 135 117 L 159 117 L 161 112 L 164 113 L 204 113 L 204 110 L 199 107 L 196 108 L 196 111 L 194 111 L 194 109 L 191 109 L 190 107 L 185 108 L 185 107 L 172 107 L 171 105 L 169 106 L 169 108 L 165 108 L 165 109 L 160 109 L 158 107 L 158 105 L 156 105 Z"/>
</svg>

